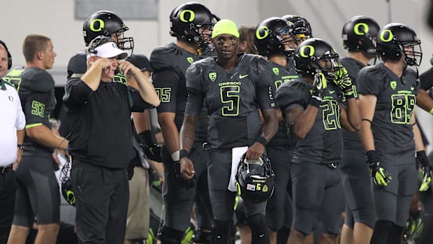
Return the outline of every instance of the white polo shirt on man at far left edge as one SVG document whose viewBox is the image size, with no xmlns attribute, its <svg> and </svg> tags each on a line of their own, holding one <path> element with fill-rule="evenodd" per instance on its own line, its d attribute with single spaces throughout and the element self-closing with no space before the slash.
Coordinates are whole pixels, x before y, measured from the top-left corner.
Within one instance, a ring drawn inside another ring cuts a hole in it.
<svg viewBox="0 0 433 244">
<path fill-rule="evenodd" d="M 13 164 L 17 159 L 17 130 L 24 129 L 26 118 L 22 113 L 17 90 L 0 81 L 0 167 Z M 6 88 L 6 89 L 2 89 Z"/>
</svg>

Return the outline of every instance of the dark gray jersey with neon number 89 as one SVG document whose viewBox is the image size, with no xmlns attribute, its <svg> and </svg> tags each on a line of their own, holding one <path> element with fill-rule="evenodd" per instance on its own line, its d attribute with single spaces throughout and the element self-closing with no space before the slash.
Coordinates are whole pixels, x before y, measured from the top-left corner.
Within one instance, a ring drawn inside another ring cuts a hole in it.
<svg viewBox="0 0 433 244">
<path fill-rule="evenodd" d="M 416 72 L 406 69 L 399 78 L 384 64 L 376 64 L 361 69 L 357 80 L 360 94 L 377 96 L 372 132 L 379 157 L 396 164 L 412 163 L 415 143 L 409 121 L 419 89 Z"/>
</svg>

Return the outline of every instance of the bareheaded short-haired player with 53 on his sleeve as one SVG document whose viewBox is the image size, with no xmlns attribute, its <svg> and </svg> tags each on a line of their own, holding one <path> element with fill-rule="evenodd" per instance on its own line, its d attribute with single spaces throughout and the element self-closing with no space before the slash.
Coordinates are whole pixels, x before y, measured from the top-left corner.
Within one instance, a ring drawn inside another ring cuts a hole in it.
<svg viewBox="0 0 433 244">
<path fill-rule="evenodd" d="M 25 243 L 34 220 L 38 221 L 36 243 L 56 243 L 60 221 L 60 194 L 52 162 L 54 150 L 66 150 L 68 141 L 51 129 L 50 113 L 56 104 L 51 39 L 30 34 L 22 45 L 25 69 L 11 69 L 8 80 L 17 87 L 26 116 L 22 161 L 17 168 L 15 217 L 8 243 Z"/>
</svg>

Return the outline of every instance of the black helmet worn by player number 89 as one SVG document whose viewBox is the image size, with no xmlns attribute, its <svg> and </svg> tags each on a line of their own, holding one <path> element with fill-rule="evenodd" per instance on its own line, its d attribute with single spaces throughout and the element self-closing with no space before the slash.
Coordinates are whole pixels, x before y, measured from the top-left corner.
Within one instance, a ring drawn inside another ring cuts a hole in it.
<svg viewBox="0 0 433 244">
<path fill-rule="evenodd" d="M 405 24 L 386 24 L 379 31 L 376 44 L 379 56 L 386 59 L 397 61 L 404 53 L 404 61 L 409 66 L 419 66 L 423 59 L 419 36 Z M 405 46 L 406 48 L 409 46 L 412 50 L 405 50 Z"/>
</svg>

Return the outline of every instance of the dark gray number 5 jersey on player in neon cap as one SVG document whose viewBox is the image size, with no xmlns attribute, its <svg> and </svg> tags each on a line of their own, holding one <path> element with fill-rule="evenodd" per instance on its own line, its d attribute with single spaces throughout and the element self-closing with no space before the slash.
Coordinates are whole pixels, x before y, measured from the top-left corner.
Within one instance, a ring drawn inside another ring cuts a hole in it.
<svg viewBox="0 0 433 244">
<path fill-rule="evenodd" d="M 258 108 L 273 109 L 272 69 L 258 55 L 240 55 L 240 62 L 226 71 L 208 57 L 192 64 L 186 71 L 186 86 L 201 99 L 188 100 L 185 113 L 197 115 L 203 98 L 209 117 L 208 142 L 211 149 L 252 145 L 262 124 Z M 266 89 L 267 104 L 260 103 L 258 90 Z M 259 106 L 260 103 L 260 106 Z"/>
</svg>

